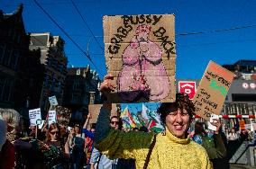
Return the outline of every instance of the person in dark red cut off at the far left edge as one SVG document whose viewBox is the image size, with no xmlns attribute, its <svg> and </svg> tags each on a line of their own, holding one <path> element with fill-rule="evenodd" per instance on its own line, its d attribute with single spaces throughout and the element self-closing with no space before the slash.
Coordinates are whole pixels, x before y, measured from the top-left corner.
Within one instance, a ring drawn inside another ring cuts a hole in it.
<svg viewBox="0 0 256 169">
<path fill-rule="evenodd" d="M 0 115 L 0 168 L 13 169 L 15 161 L 14 145 L 6 139 L 7 126 Z"/>
</svg>

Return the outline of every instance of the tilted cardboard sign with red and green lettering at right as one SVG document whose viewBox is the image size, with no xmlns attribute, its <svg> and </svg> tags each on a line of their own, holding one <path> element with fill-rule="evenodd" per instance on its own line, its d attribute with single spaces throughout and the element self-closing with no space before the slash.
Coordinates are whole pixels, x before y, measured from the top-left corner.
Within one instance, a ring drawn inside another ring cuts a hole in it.
<svg viewBox="0 0 256 169">
<path fill-rule="evenodd" d="M 196 114 L 209 120 L 211 114 L 222 111 L 226 94 L 233 82 L 234 74 L 210 61 L 193 99 Z"/>
</svg>

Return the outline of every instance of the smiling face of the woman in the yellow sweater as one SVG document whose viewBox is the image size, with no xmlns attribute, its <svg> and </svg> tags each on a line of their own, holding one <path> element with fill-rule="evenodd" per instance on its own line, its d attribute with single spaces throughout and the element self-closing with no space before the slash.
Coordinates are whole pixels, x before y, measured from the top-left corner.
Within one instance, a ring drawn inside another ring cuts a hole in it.
<svg viewBox="0 0 256 169">
<path fill-rule="evenodd" d="M 185 109 L 169 112 L 166 116 L 166 126 L 177 138 L 185 138 L 189 123 L 189 115 Z"/>
</svg>

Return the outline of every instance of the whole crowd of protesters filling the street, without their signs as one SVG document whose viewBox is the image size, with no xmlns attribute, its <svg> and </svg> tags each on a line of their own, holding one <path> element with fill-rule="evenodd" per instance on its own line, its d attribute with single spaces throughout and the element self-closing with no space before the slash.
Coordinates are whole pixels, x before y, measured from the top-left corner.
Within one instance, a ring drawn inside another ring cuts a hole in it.
<svg viewBox="0 0 256 169">
<path fill-rule="evenodd" d="M 110 79 L 101 85 L 105 95 Z M 127 119 L 127 109 L 110 117 L 111 106 L 104 102 L 89 128 L 90 113 L 83 125 L 46 122 L 29 132 L 17 111 L 1 109 L 0 168 L 229 168 L 233 147 L 256 143 L 255 132 L 228 129 L 220 120 L 212 122 L 215 131 L 207 129 L 204 120 L 194 119 L 195 107 L 184 93 L 176 94 L 176 102 L 161 103 L 154 117 L 146 111 L 149 120 L 143 113 Z"/>
</svg>

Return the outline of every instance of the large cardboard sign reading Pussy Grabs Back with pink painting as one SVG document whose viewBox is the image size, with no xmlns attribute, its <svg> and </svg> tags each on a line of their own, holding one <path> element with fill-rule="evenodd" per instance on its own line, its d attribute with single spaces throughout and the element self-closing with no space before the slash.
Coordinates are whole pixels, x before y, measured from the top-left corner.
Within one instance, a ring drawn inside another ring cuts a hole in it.
<svg viewBox="0 0 256 169">
<path fill-rule="evenodd" d="M 174 102 L 173 14 L 104 16 L 105 62 L 116 89 L 110 102 Z"/>
</svg>

